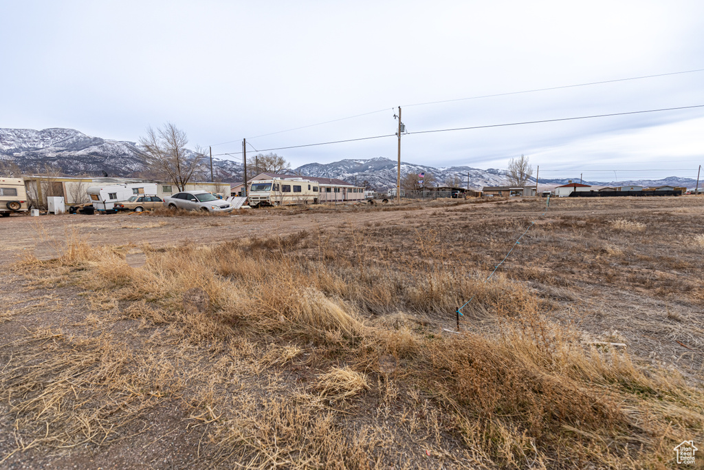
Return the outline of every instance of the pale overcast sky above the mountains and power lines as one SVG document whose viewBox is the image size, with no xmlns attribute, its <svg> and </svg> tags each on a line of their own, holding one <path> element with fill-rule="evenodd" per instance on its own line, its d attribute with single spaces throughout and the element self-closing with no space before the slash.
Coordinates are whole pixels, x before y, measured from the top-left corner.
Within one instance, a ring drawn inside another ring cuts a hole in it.
<svg viewBox="0 0 704 470">
<path fill-rule="evenodd" d="M 411 106 L 704 68 L 701 0 L 2 1 L 0 51 L 0 127 L 134 142 L 171 121 L 213 154 L 394 134 L 397 106 L 414 132 L 704 104 L 698 72 Z M 695 178 L 703 130 L 700 108 L 412 134 L 402 159 Z M 395 159 L 396 138 L 277 153 Z"/>
</svg>

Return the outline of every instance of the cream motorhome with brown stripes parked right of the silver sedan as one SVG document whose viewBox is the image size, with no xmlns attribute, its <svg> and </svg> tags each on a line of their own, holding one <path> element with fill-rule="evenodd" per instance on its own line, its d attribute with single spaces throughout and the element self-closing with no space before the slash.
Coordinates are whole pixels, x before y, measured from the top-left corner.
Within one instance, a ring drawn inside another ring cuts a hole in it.
<svg viewBox="0 0 704 470">
<path fill-rule="evenodd" d="M 282 180 L 257 180 L 249 185 L 249 205 L 256 206 L 290 206 L 295 204 L 318 204 L 320 191 L 318 183 L 292 178 Z"/>
</svg>

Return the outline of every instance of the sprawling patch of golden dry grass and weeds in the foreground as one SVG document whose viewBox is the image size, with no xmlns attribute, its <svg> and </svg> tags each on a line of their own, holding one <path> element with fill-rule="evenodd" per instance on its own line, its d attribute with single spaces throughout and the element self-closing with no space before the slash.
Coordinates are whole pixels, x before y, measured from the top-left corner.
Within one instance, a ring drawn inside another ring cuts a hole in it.
<svg viewBox="0 0 704 470">
<path fill-rule="evenodd" d="M 312 239 L 145 246 L 141 268 L 129 247 L 80 240 L 25 259 L 37 285 L 94 292 L 100 316 L 82 335 L 34 333 L 0 377 L 15 451 L 109 445 L 173 402 L 208 466 L 245 468 L 657 467 L 704 426 L 683 377 L 583 345 L 508 276 L 458 273 L 432 232 L 403 254 L 355 228 Z M 184 306 L 192 289 L 207 308 Z M 435 327 L 469 297 L 470 331 Z M 149 335 L 115 338 L 118 321 Z"/>
</svg>

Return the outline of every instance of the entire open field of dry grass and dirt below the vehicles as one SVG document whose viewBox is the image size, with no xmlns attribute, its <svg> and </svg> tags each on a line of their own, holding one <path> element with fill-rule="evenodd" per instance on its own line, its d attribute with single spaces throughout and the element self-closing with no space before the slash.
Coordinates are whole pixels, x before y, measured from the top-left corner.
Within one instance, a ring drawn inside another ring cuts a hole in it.
<svg viewBox="0 0 704 470">
<path fill-rule="evenodd" d="M 704 443 L 704 199 L 0 236 L 1 468 L 664 469 Z"/>
</svg>

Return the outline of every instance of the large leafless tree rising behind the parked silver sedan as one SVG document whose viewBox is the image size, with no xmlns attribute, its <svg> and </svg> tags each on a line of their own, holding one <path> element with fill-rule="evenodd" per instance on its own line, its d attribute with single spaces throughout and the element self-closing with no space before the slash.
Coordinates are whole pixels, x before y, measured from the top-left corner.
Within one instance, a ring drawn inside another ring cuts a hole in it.
<svg viewBox="0 0 704 470">
<path fill-rule="evenodd" d="M 186 184 L 199 171 L 206 157 L 198 148 L 189 155 L 186 132 L 172 123 L 165 123 L 157 130 L 147 128 L 146 137 L 140 137 L 139 143 L 144 147 L 149 166 L 165 180 L 174 183 L 179 191 L 186 189 Z"/>
</svg>

